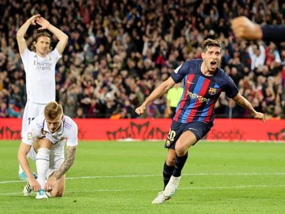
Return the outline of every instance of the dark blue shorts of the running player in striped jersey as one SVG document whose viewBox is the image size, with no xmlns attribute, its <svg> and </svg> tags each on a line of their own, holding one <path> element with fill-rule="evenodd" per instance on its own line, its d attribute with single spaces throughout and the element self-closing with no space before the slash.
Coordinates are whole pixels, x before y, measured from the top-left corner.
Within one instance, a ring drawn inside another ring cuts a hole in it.
<svg viewBox="0 0 285 214">
<path fill-rule="evenodd" d="M 213 127 L 212 124 L 205 122 L 182 123 L 172 120 L 171 127 L 165 140 L 165 148 L 175 149 L 176 141 L 184 131 L 191 131 L 197 138 L 197 141 L 203 138 Z"/>
</svg>

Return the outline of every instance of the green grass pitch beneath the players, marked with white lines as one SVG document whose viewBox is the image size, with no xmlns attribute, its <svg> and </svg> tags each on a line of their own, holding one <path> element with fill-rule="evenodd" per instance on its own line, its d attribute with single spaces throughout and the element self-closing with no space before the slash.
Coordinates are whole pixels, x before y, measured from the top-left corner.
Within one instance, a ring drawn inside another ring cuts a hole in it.
<svg viewBox="0 0 285 214">
<path fill-rule="evenodd" d="M 0 141 L 0 213 L 285 213 L 282 143 L 198 142 L 165 204 L 151 204 L 162 189 L 164 142 L 81 141 L 65 196 L 47 200 L 23 197 L 18 147 Z"/>
</svg>

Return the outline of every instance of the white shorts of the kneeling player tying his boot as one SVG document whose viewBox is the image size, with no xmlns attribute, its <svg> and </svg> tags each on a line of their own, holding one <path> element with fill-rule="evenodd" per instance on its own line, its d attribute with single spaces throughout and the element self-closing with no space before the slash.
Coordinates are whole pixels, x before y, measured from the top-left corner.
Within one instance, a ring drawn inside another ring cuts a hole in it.
<svg viewBox="0 0 285 214">
<path fill-rule="evenodd" d="M 31 147 L 27 155 L 27 158 L 31 158 L 34 161 L 36 160 L 36 151 L 34 151 L 33 147 Z M 47 175 L 45 176 L 45 178 L 48 179 L 50 175 L 54 173 L 54 171 L 59 170 L 59 167 L 61 167 L 63 161 L 64 161 L 63 153 L 55 154 L 52 150 L 50 150 L 50 167 L 47 170 Z"/>
</svg>

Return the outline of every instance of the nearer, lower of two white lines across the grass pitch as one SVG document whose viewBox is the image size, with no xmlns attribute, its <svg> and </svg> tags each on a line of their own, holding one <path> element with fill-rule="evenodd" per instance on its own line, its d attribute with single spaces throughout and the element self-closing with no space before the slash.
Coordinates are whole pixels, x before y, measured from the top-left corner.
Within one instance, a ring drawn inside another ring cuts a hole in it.
<svg viewBox="0 0 285 214">
<path fill-rule="evenodd" d="M 249 186 L 193 186 L 193 187 L 178 187 L 179 190 L 189 189 L 252 189 L 252 188 L 280 188 L 285 185 L 249 185 Z M 97 189 L 84 191 L 65 191 L 66 193 L 110 193 L 110 192 L 130 192 L 130 191 L 160 191 L 161 189 Z M 23 193 L 0 193 L 0 195 L 21 195 Z"/>
</svg>

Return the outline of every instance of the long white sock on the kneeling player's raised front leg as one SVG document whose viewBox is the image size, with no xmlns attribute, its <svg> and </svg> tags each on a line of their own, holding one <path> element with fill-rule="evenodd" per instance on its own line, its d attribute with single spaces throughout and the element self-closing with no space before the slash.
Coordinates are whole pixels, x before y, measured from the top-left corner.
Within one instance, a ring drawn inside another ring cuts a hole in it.
<svg viewBox="0 0 285 214">
<path fill-rule="evenodd" d="M 38 173 L 38 182 L 41 189 L 45 186 L 45 175 L 50 167 L 50 149 L 41 148 L 36 154 L 36 172 Z"/>
</svg>

